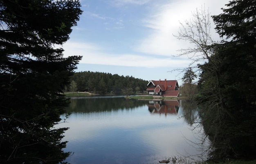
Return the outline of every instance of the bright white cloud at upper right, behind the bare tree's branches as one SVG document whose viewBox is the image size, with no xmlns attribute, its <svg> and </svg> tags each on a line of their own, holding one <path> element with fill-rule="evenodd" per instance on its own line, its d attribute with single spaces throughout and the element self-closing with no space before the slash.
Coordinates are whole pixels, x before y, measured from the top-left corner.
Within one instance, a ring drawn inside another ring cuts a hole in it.
<svg viewBox="0 0 256 164">
<path fill-rule="evenodd" d="M 191 18 L 191 12 L 205 5 L 211 15 L 221 13 L 228 0 L 179 0 L 168 4 L 156 5 L 151 14 L 144 20 L 144 26 L 151 29 L 150 33 L 139 41 L 135 48 L 139 52 L 155 55 L 176 55 L 177 50 L 189 47 L 188 42 L 177 40 L 180 22 Z M 212 24 L 213 27 L 214 24 Z M 214 29 L 213 33 L 215 33 Z M 218 35 L 215 35 L 218 36 Z M 192 45 L 193 46 L 193 45 Z"/>
</svg>

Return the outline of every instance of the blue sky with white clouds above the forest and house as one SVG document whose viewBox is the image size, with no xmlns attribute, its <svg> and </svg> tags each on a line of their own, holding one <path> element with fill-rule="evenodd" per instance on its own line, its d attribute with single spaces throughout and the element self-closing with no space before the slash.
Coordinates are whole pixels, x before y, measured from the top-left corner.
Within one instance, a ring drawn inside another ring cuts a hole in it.
<svg viewBox="0 0 256 164">
<path fill-rule="evenodd" d="M 228 0 L 80 0 L 83 14 L 63 44 L 64 57 L 83 56 L 76 72 L 92 71 L 143 80 L 178 80 L 191 63 L 174 57 L 190 46 L 177 35 L 197 8 L 222 13 Z M 214 24 L 212 26 L 213 37 Z"/>
</svg>

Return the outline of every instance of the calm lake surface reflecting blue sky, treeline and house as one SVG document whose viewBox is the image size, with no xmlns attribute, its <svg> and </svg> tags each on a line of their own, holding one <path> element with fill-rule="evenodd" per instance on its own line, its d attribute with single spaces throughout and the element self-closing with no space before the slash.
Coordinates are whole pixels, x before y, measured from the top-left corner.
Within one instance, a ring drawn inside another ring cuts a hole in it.
<svg viewBox="0 0 256 164">
<path fill-rule="evenodd" d="M 148 164 L 173 155 L 201 154 L 197 129 L 191 122 L 197 112 L 178 100 L 134 100 L 124 96 L 71 99 L 63 140 L 64 151 L 74 154 L 71 164 Z M 185 116 L 184 116 L 185 115 Z"/>
</svg>

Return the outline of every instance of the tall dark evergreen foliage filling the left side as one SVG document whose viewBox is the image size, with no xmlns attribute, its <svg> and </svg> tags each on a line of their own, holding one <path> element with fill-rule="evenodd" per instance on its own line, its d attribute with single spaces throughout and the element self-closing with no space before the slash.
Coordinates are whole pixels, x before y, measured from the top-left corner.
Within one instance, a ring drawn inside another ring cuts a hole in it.
<svg viewBox="0 0 256 164">
<path fill-rule="evenodd" d="M 0 1 L 0 163 L 59 163 L 67 128 L 54 129 L 69 101 L 61 94 L 80 56 L 63 44 L 82 13 L 80 2 Z"/>
</svg>

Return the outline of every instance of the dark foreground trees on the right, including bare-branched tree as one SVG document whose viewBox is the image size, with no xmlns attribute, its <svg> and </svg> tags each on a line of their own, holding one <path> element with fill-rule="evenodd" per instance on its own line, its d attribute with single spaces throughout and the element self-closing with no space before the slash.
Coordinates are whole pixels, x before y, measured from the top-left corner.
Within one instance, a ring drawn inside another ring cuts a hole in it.
<svg viewBox="0 0 256 164">
<path fill-rule="evenodd" d="M 213 16 L 221 42 L 212 40 L 210 18 L 203 9 L 182 24 L 178 39 L 195 47 L 182 49 L 199 64 L 197 103 L 211 141 L 213 161 L 255 159 L 256 154 L 256 0 L 231 0 Z"/>
</svg>

